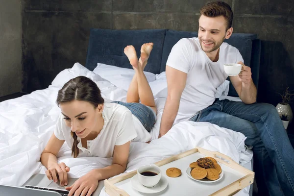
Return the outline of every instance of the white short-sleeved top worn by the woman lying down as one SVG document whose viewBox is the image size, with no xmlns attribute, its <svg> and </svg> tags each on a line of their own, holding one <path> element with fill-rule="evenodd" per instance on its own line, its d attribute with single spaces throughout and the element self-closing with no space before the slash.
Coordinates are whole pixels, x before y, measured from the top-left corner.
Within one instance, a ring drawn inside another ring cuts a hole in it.
<svg viewBox="0 0 294 196">
<path fill-rule="evenodd" d="M 113 157 L 114 147 L 121 146 L 137 137 L 133 115 L 126 107 L 115 103 L 104 103 L 102 111 L 104 126 L 98 136 L 87 141 L 87 148 L 82 147 L 81 139 L 77 147 L 79 156 Z M 69 147 L 73 147 L 71 128 L 66 126 L 64 116 L 60 114 L 54 130 L 59 140 L 65 140 Z"/>
</svg>

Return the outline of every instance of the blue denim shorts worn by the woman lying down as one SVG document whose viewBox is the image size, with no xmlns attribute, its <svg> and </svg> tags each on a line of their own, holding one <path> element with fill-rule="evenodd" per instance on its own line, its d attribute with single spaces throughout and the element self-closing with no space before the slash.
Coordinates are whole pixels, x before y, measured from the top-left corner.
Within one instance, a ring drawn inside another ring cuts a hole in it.
<svg viewBox="0 0 294 196">
<path fill-rule="evenodd" d="M 148 106 L 142 103 L 126 103 L 123 101 L 112 101 L 112 103 L 117 103 L 125 106 L 129 109 L 132 114 L 139 119 L 145 129 L 150 132 L 155 123 L 155 112 Z"/>
</svg>

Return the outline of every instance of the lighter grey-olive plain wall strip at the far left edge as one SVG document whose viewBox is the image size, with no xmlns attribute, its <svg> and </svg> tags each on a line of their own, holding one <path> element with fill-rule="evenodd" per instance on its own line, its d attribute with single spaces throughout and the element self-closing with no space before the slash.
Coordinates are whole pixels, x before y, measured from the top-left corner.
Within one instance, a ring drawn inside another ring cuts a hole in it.
<svg viewBox="0 0 294 196">
<path fill-rule="evenodd" d="M 22 91 L 22 8 L 0 0 L 0 97 Z"/>
</svg>

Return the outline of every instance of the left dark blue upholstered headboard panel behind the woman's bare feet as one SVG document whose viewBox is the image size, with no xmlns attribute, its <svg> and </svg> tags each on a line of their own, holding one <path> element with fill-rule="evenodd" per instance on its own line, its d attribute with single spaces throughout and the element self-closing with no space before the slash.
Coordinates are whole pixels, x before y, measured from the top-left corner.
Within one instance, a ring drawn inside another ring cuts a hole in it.
<svg viewBox="0 0 294 196">
<path fill-rule="evenodd" d="M 160 73 L 162 47 L 166 30 L 109 30 L 91 29 L 86 67 L 94 70 L 97 63 L 115 65 L 117 67 L 130 68 L 129 60 L 123 53 L 127 45 L 133 45 L 138 58 L 140 49 L 144 43 L 153 42 L 154 46 L 148 59 L 145 71 Z"/>
</svg>

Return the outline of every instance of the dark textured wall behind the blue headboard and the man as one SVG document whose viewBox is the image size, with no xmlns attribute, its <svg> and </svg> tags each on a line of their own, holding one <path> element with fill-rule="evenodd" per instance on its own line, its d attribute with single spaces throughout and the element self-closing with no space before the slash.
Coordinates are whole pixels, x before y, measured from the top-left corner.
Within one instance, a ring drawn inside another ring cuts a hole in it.
<svg viewBox="0 0 294 196">
<path fill-rule="evenodd" d="M 91 27 L 197 31 L 199 8 L 211 0 L 23 0 L 24 91 L 48 87 L 74 62 L 85 65 Z M 276 105 L 294 90 L 293 0 L 225 0 L 234 32 L 262 40 L 258 101 Z"/>
</svg>

